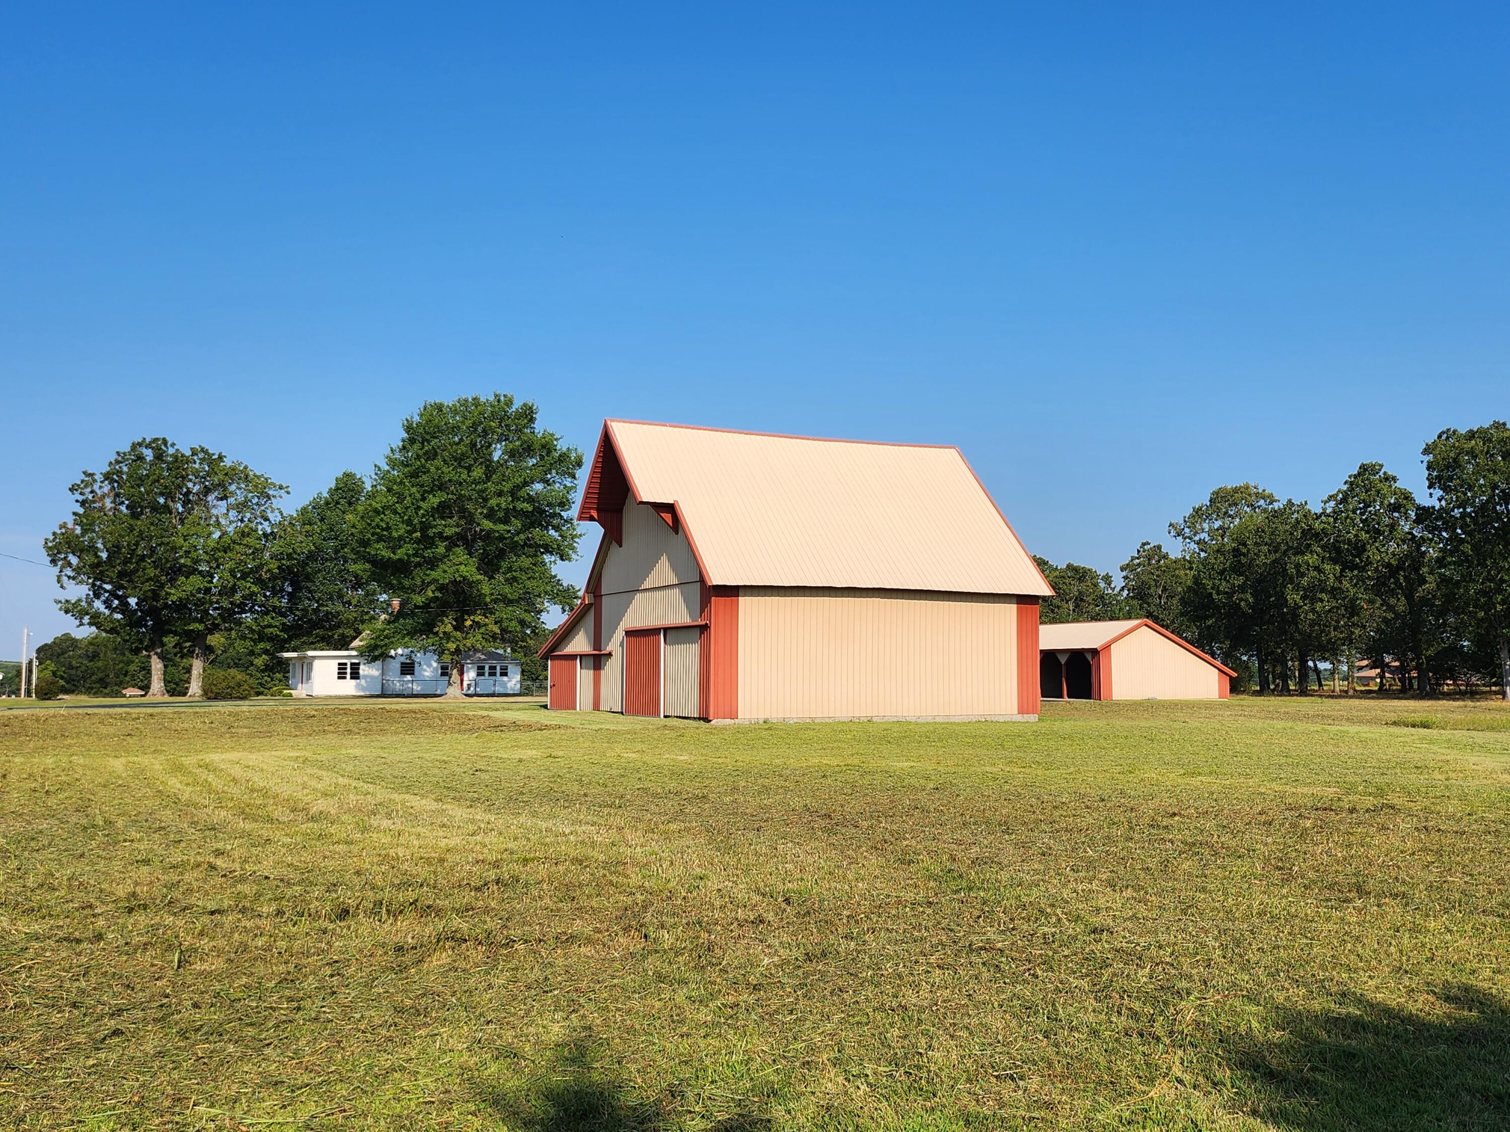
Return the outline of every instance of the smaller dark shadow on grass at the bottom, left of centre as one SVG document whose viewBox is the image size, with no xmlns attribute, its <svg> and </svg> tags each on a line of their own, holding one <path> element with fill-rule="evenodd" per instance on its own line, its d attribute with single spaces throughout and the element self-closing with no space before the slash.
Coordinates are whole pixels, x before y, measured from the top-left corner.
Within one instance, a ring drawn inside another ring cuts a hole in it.
<svg viewBox="0 0 1510 1132">
<path fill-rule="evenodd" d="M 538 1073 L 489 1090 L 488 1106 L 521 1132 L 670 1132 L 687 1126 L 664 1097 L 646 1097 L 602 1066 L 592 1038 L 562 1046 Z M 769 1132 L 769 1117 L 737 1114 L 711 1121 L 710 1132 Z"/>
</svg>

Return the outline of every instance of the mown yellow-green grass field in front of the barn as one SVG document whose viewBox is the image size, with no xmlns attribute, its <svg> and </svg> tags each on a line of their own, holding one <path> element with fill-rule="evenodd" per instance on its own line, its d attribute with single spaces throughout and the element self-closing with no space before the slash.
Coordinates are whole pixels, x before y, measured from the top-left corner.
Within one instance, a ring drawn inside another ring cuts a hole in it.
<svg viewBox="0 0 1510 1132">
<path fill-rule="evenodd" d="M 0 712 L 0 1124 L 1510 1126 L 1510 712 Z"/>
</svg>

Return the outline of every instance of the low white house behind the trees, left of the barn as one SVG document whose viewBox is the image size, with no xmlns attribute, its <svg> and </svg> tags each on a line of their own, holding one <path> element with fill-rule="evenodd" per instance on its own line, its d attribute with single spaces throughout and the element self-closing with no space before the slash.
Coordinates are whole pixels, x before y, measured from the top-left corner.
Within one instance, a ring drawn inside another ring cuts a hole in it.
<svg viewBox="0 0 1510 1132">
<path fill-rule="evenodd" d="M 355 641 L 352 641 L 355 644 Z M 400 649 L 381 661 L 362 660 L 356 649 L 279 652 L 288 661 L 294 696 L 439 696 L 451 666 L 433 652 Z M 518 696 L 521 661 L 504 652 L 462 654 L 462 693 Z"/>
</svg>

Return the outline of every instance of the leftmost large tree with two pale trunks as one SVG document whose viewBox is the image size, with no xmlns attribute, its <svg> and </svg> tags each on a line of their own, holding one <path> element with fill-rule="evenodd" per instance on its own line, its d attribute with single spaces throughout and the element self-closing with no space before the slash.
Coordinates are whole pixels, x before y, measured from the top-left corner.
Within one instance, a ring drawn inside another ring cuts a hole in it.
<svg viewBox="0 0 1510 1132">
<path fill-rule="evenodd" d="M 44 543 L 59 599 L 82 625 L 148 657 L 148 696 L 168 694 L 163 649 L 192 641 L 195 670 L 216 626 L 255 599 L 257 566 L 279 484 L 208 448 L 184 451 L 154 436 L 118 451 L 104 471 L 69 489 L 74 515 Z M 190 681 L 190 694 L 198 682 Z"/>
</svg>

